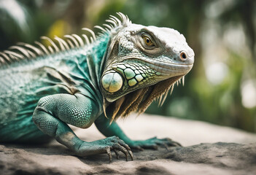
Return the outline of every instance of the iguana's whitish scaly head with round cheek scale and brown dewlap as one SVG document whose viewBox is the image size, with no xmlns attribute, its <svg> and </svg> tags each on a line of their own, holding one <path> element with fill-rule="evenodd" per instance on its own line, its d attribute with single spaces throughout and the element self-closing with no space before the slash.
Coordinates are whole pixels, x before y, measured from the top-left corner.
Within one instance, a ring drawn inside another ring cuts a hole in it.
<svg viewBox="0 0 256 175">
<path fill-rule="evenodd" d="M 111 32 L 101 88 L 106 113 L 144 112 L 192 69 L 194 52 L 172 28 L 125 23 Z M 164 101 L 164 99 L 163 99 Z"/>
</svg>

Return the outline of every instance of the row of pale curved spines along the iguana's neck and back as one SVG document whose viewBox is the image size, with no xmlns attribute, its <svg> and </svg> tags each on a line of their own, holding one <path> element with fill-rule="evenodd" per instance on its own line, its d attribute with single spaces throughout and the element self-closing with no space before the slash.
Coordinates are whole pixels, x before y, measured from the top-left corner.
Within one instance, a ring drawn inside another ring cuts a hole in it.
<svg viewBox="0 0 256 175">
<path fill-rule="evenodd" d="M 50 43 L 49 46 L 44 46 L 44 44 L 40 42 L 34 42 L 35 45 L 18 43 L 15 46 L 9 47 L 8 50 L 0 52 L 0 66 L 21 61 L 26 58 L 36 58 L 37 56 L 50 55 L 56 52 L 71 50 L 75 47 L 83 47 L 85 45 L 93 44 L 98 37 L 101 37 L 104 34 L 110 34 L 112 31 L 128 26 L 128 24 L 131 23 L 131 20 L 129 20 L 127 15 L 123 15 L 121 12 L 117 12 L 117 15 L 120 19 L 110 15 L 109 20 L 106 20 L 108 24 L 103 24 L 104 27 L 94 26 L 94 28 L 101 30 L 97 35 L 89 28 L 82 28 L 83 31 L 88 31 L 90 34 L 89 37 L 85 34 L 82 34 L 82 37 L 77 34 L 71 34 L 63 36 L 63 39 L 55 36 L 55 41 L 53 41 L 47 36 L 42 36 L 41 39 L 47 40 Z"/>
</svg>

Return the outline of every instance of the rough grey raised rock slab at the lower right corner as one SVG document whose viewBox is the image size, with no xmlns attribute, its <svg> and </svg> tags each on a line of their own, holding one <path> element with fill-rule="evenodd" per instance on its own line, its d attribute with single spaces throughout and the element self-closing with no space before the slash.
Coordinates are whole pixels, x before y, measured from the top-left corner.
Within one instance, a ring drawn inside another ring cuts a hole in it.
<svg viewBox="0 0 256 175">
<path fill-rule="evenodd" d="M 217 168 L 256 173 L 256 144 L 218 142 L 171 149 L 163 158 L 186 163 L 203 163 Z"/>
</svg>

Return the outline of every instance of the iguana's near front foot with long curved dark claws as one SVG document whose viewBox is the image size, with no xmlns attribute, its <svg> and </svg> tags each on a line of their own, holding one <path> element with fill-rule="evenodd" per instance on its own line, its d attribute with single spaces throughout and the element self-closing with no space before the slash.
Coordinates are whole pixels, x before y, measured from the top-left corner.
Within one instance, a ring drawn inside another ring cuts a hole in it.
<svg viewBox="0 0 256 175">
<path fill-rule="evenodd" d="M 123 152 L 125 154 L 126 161 L 128 161 L 128 157 L 131 157 L 133 160 L 133 152 L 131 152 L 131 148 L 128 144 L 117 136 L 108 137 L 106 139 L 92 141 L 92 142 L 83 142 L 79 149 L 75 151 L 79 156 L 86 156 L 86 155 L 96 155 L 100 153 L 106 153 L 109 156 L 109 162 L 112 161 L 112 153 L 111 151 L 115 152 L 117 159 L 119 159 L 119 153 Z"/>
</svg>

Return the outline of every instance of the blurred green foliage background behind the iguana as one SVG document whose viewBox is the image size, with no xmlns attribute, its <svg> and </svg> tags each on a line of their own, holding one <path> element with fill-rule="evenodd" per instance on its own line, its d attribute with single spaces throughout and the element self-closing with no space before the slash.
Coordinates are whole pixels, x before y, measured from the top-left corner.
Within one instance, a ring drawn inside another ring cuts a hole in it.
<svg viewBox="0 0 256 175">
<path fill-rule="evenodd" d="M 175 28 L 195 51 L 185 87 L 147 113 L 256 131 L 253 0 L 0 0 L 0 50 L 40 36 L 81 34 L 116 12 L 144 26 Z"/>
</svg>

